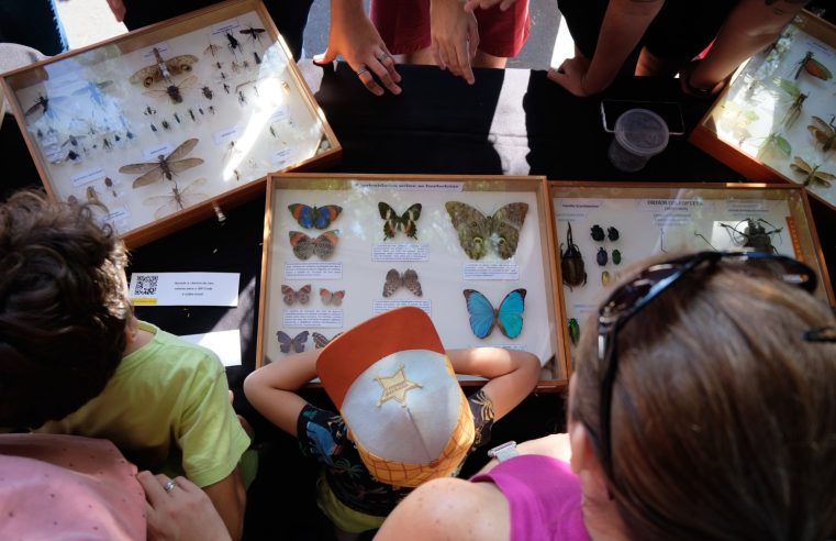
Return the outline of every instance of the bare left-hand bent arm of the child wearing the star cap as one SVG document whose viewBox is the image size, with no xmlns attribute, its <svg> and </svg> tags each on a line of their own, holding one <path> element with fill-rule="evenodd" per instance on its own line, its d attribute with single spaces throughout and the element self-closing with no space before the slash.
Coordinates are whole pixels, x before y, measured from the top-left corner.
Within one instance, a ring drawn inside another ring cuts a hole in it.
<svg viewBox="0 0 836 541">
<path fill-rule="evenodd" d="M 308 404 L 296 390 L 316 377 L 320 351 L 305 351 L 276 361 L 255 371 L 244 380 L 244 394 L 249 404 L 293 437 L 297 435 L 299 413 Z"/>
</svg>

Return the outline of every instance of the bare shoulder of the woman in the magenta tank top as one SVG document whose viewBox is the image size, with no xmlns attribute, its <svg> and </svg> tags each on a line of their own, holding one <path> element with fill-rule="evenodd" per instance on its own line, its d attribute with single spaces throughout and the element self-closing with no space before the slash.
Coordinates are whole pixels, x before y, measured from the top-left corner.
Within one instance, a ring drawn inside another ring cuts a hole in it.
<svg viewBox="0 0 836 541">
<path fill-rule="evenodd" d="M 509 505 L 492 483 L 457 478 L 427 482 L 387 518 L 375 539 L 508 539 Z"/>
</svg>

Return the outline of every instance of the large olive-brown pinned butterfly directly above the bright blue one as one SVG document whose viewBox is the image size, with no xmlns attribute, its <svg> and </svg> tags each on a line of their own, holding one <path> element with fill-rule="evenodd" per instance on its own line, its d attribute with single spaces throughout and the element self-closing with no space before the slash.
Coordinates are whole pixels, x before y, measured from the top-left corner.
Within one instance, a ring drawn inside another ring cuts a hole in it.
<svg viewBox="0 0 836 541">
<path fill-rule="evenodd" d="M 445 208 L 453 227 L 458 231 L 461 249 L 471 260 L 481 260 L 488 255 L 489 246 L 493 246 L 493 251 L 503 260 L 516 253 L 528 203 L 512 202 L 500 207 L 492 216 L 484 216 L 480 210 L 460 201 L 447 201 Z"/>
</svg>

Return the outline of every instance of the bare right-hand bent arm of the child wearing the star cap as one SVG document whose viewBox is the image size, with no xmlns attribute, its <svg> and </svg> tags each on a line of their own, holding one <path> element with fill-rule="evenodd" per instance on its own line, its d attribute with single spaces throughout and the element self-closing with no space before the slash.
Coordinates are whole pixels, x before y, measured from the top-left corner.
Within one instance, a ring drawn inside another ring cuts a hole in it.
<svg viewBox="0 0 836 541">
<path fill-rule="evenodd" d="M 493 402 L 493 419 L 514 409 L 537 384 L 539 361 L 528 352 L 502 347 L 447 350 L 456 374 L 490 379 L 482 391 Z"/>
</svg>

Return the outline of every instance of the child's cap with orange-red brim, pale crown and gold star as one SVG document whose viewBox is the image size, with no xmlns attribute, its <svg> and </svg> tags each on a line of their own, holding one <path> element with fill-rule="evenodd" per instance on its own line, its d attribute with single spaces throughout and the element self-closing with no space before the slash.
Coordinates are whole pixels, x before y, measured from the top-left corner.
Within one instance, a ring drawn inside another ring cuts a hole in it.
<svg viewBox="0 0 836 541">
<path fill-rule="evenodd" d="M 473 443 L 467 399 L 423 310 L 390 310 L 344 332 L 322 351 L 316 372 L 382 483 L 448 476 Z"/>
</svg>

